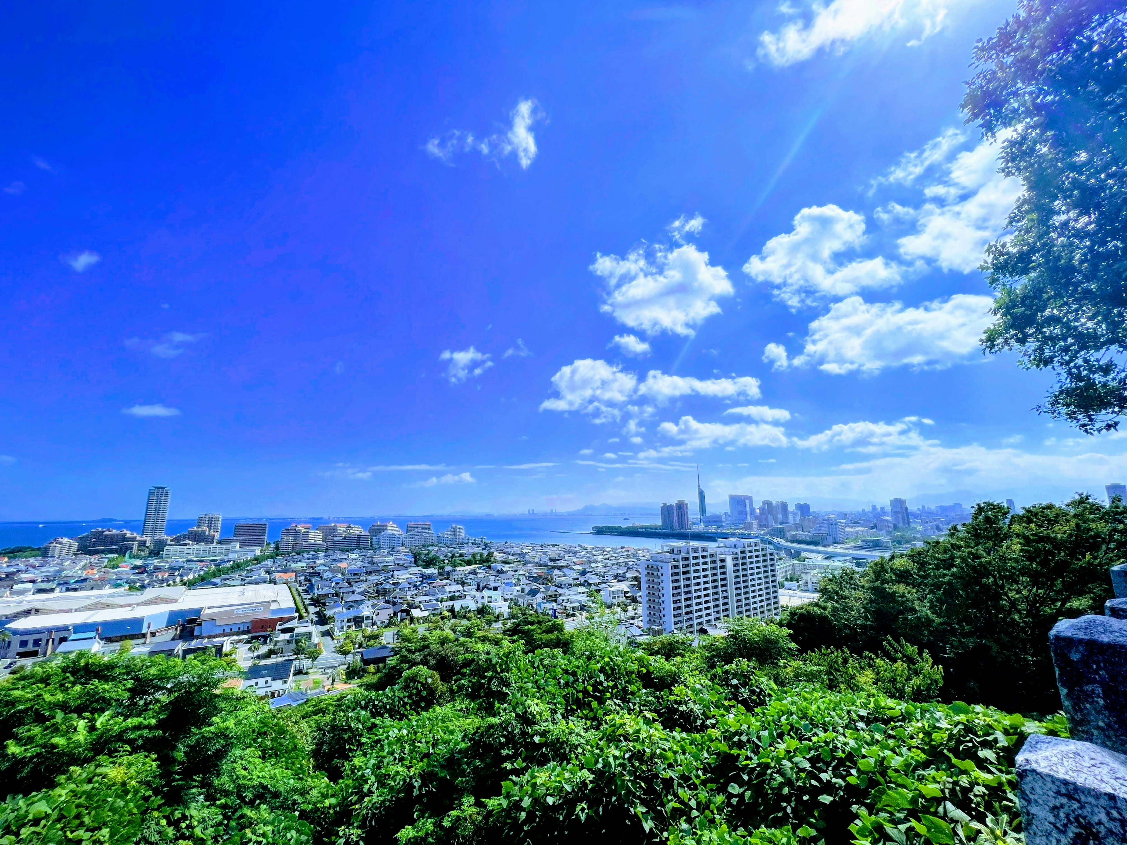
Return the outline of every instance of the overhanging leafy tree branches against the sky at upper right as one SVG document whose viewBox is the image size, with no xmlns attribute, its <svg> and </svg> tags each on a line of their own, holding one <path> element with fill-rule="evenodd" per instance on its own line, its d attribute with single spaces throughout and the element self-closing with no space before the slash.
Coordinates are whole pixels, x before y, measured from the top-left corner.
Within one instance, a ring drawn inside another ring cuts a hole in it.
<svg viewBox="0 0 1127 845">
<path fill-rule="evenodd" d="M 979 42 L 962 107 L 1024 192 L 987 249 L 986 350 L 1057 382 L 1042 410 L 1092 434 L 1127 412 L 1127 29 L 1111 0 L 1022 0 Z"/>
</svg>

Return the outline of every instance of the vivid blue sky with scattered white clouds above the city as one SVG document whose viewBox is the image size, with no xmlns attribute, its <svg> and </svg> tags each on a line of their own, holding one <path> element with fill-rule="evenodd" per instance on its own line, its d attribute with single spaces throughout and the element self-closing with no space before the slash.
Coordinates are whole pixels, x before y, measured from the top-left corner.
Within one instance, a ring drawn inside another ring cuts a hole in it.
<svg viewBox="0 0 1127 845">
<path fill-rule="evenodd" d="M 6 10 L 0 518 L 1101 491 L 976 347 L 1012 10 Z"/>
</svg>

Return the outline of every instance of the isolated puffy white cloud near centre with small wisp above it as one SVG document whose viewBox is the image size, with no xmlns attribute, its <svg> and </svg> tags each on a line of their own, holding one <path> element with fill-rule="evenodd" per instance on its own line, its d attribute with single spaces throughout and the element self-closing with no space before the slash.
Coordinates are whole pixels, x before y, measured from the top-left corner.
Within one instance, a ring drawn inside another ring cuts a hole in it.
<svg viewBox="0 0 1127 845">
<path fill-rule="evenodd" d="M 677 228 L 680 238 L 699 228 L 694 221 L 678 219 L 671 229 Z M 606 282 L 604 313 L 647 335 L 692 337 L 696 326 L 720 313 L 716 300 L 733 294 L 724 267 L 708 261 L 708 252 L 691 243 L 657 244 L 632 249 L 625 258 L 596 254 L 589 269 Z"/>
</svg>

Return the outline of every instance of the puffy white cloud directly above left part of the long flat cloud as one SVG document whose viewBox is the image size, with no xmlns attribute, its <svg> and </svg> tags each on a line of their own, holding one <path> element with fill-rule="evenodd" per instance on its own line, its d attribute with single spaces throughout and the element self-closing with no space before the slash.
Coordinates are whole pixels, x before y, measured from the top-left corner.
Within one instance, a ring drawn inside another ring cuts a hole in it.
<svg viewBox="0 0 1127 845">
<path fill-rule="evenodd" d="M 882 257 L 838 263 L 838 252 L 864 243 L 864 217 L 836 205 L 802 208 L 793 230 L 769 240 L 744 273 L 774 287 L 774 295 L 790 309 L 810 299 L 848 296 L 866 287 L 894 287 L 902 268 Z"/>
</svg>

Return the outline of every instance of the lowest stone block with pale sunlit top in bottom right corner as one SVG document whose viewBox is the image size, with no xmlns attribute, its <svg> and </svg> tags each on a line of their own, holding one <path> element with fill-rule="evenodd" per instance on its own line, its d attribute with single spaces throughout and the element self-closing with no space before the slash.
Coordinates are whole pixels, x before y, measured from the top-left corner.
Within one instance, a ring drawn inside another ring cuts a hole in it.
<svg viewBox="0 0 1127 845">
<path fill-rule="evenodd" d="M 1127 756 L 1032 736 L 1017 770 L 1027 845 L 1127 843 Z"/>
</svg>

